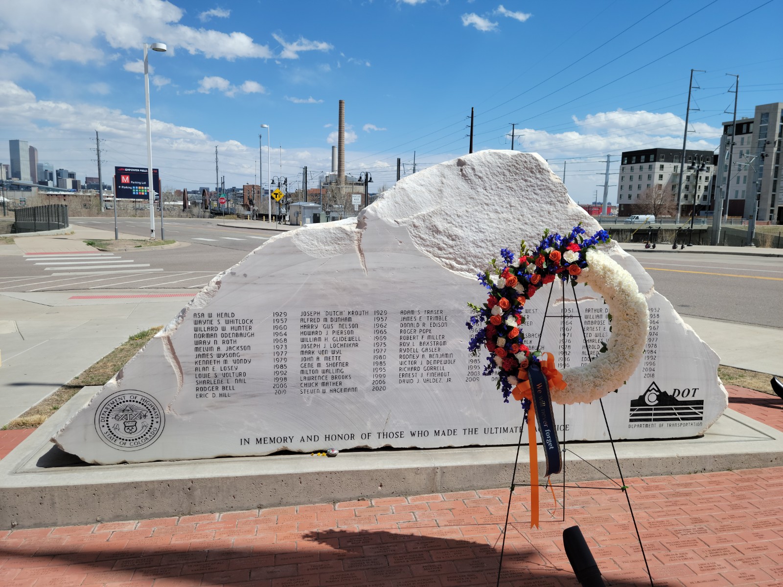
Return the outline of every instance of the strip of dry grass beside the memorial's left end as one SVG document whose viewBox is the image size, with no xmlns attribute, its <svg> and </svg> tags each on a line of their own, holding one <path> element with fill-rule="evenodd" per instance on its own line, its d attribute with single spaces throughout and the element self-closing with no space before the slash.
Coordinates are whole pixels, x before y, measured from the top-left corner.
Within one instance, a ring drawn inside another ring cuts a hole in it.
<svg viewBox="0 0 783 587">
<path fill-rule="evenodd" d="M 153 326 L 149 330 L 142 330 L 128 337 L 128 340 L 115 348 L 114 351 L 93 363 L 92 366 L 79 373 L 54 393 L 43 398 L 27 412 L 11 420 L 2 427 L 2 430 L 38 428 L 49 416 L 62 408 L 65 402 L 73 398 L 82 387 L 106 384 L 161 328 L 163 326 Z"/>
</svg>

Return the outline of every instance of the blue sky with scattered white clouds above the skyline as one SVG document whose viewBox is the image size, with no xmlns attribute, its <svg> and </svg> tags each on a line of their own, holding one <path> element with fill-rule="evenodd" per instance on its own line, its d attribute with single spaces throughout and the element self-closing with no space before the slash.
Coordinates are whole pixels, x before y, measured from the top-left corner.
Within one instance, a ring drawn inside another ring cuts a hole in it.
<svg viewBox="0 0 783 587">
<path fill-rule="evenodd" d="M 706 70 L 693 147 L 714 149 L 731 119 L 726 73 L 741 76 L 738 116 L 783 101 L 781 20 L 781 0 L 27 0 L 0 13 L 0 140 L 27 139 L 83 178 L 97 128 L 106 177 L 146 165 L 137 62 L 163 41 L 150 64 L 164 185 L 214 185 L 215 146 L 226 185 L 253 182 L 262 123 L 273 175 L 328 171 L 345 99 L 346 167 L 375 188 L 393 184 L 397 157 L 410 174 L 414 150 L 418 169 L 467 153 L 474 106 L 474 150 L 510 148 L 518 123 L 515 147 L 557 173 L 568 160 L 569 192 L 587 202 L 606 154 L 681 146 L 691 67 Z"/>
</svg>

